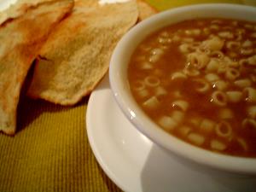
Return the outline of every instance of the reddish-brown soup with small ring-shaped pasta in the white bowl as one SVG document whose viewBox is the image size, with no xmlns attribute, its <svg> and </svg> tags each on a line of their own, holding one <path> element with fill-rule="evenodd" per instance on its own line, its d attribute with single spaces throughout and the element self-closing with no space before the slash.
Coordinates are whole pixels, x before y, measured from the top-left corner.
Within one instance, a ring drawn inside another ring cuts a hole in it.
<svg viewBox="0 0 256 192">
<path fill-rule="evenodd" d="M 131 56 L 132 95 L 175 137 L 256 157 L 256 24 L 186 20 L 148 36 Z"/>
</svg>

